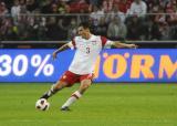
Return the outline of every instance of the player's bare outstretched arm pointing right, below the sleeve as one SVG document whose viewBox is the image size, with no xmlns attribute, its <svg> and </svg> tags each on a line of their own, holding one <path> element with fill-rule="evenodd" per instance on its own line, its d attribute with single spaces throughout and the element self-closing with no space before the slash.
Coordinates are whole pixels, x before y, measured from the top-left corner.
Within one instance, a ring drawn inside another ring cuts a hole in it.
<svg viewBox="0 0 177 126">
<path fill-rule="evenodd" d="M 113 42 L 112 45 L 117 49 L 119 49 L 119 48 L 136 49 L 137 48 L 136 44 L 126 44 L 126 43 L 122 43 L 119 41 Z"/>
</svg>

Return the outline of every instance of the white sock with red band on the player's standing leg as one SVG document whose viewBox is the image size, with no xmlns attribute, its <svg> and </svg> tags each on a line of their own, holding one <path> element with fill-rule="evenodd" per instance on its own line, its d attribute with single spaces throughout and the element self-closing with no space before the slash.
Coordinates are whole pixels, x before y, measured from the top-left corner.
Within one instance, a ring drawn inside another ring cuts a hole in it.
<svg viewBox="0 0 177 126">
<path fill-rule="evenodd" d="M 69 107 L 71 104 L 73 104 L 76 99 L 79 99 L 82 96 L 82 94 L 76 91 L 74 92 L 71 97 L 62 105 L 62 108 Z"/>
</svg>

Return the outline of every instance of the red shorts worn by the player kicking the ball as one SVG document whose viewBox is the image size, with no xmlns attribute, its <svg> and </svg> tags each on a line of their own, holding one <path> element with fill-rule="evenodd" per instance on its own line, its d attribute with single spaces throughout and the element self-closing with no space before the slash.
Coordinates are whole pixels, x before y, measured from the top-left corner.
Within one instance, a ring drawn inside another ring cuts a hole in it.
<svg viewBox="0 0 177 126">
<path fill-rule="evenodd" d="M 72 86 L 74 83 L 79 83 L 83 80 L 93 80 L 94 74 L 84 74 L 84 75 L 79 75 L 75 73 L 72 73 L 70 71 L 66 71 L 60 78 L 62 82 L 66 82 L 69 85 Z"/>
</svg>

